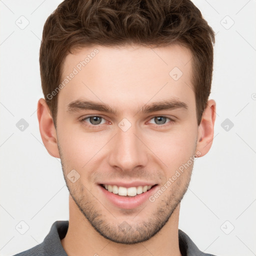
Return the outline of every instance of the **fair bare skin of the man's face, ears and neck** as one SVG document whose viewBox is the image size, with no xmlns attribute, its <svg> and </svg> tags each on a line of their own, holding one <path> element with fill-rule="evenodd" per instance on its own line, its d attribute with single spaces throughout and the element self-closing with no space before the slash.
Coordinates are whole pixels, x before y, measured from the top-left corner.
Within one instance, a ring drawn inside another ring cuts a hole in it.
<svg viewBox="0 0 256 256">
<path fill-rule="evenodd" d="M 58 92 L 56 129 L 45 100 L 38 101 L 42 141 L 50 155 L 61 159 L 70 192 L 69 227 L 61 244 L 69 256 L 181 255 L 179 207 L 193 164 L 153 202 L 132 209 L 111 204 L 98 183 L 143 180 L 161 188 L 189 157 L 210 149 L 216 103 L 208 100 L 198 126 L 191 53 L 178 44 L 153 50 L 137 45 L 76 49 L 65 58 L 63 76 L 94 48 L 99 50 L 95 57 Z M 175 66 L 183 73 L 176 81 L 169 75 Z M 144 105 L 174 98 L 187 109 L 138 112 Z M 76 99 L 106 103 L 117 113 L 68 111 Z M 96 126 L 90 118 L 81 121 L 87 115 L 103 118 Z M 154 118 L 162 115 L 174 121 Z M 123 118 L 131 123 L 126 131 L 118 126 Z M 72 169 L 80 175 L 74 183 L 67 178 Z M 125 232 L 118 228 L 124 221 L 130 227 Z"/>
</svg>

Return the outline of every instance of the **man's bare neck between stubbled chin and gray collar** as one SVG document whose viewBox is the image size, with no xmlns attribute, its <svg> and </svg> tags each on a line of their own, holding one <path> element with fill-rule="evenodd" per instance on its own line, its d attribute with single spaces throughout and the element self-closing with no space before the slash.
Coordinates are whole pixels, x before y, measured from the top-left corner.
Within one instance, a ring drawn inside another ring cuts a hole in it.
<svg viewBox="0 0 256 256">
<path fill-rule="evenodd" d="M 61 244 L 69 256 L 181 256 L 178 245 L 178 215 L 179 204 L 167 223 L 149 240 L 136 244 L 120 244 L 101 236 L 83 216 L 69 195 L 69 225 Z"/>
</svg>

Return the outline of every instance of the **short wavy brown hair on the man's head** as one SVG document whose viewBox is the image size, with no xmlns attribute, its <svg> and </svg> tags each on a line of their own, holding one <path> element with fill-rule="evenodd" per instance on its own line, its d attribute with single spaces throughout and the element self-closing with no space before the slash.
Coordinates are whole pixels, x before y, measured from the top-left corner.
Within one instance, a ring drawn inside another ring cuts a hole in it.
<svg viewBox="0 0 256 256">
<path fill-rule="evenodd" d="M 192 53 L 192 86 L 200 124 L 211 89 L 214 31 L 190 0 L 64 0 L 45 21 L 40 75 L 56 127 L 57 95 L 65 57 L 74 48 L 129 43 L 155 47 L 180 43 Z"/>
</svg>

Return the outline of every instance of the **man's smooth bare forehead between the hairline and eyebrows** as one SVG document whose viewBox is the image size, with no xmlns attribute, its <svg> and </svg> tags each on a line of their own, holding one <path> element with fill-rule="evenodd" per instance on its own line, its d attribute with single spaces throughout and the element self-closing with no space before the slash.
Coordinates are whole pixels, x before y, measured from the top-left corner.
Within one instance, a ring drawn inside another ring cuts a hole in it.
<svg viewBox="0 0 256 256">
<path fill-rule="evenodd" d="M 192 103 L 191 58 L 178 44 L 76 49 L 64 59 L 59 101 L 67 105 L 85 97 L 125 107 L 174 97 Z"/>
</svg>

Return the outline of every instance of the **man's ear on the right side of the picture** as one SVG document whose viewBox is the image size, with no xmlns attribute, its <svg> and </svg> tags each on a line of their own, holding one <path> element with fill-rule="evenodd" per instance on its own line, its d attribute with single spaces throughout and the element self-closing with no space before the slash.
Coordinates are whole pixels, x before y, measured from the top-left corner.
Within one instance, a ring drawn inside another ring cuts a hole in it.
<svg viewBox="0 0 256 256">
<path fill-rule="evenodd" d="M 198 126 L 196 152 L 197 156 L 205 155 L 212 144 L 214 134 L 214 122 L 216 118 L 216 102 L 213 99 L 208 100 L 207 106 L 202 113 L 201 122 Z"/>
</svg>

